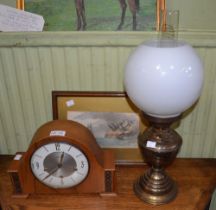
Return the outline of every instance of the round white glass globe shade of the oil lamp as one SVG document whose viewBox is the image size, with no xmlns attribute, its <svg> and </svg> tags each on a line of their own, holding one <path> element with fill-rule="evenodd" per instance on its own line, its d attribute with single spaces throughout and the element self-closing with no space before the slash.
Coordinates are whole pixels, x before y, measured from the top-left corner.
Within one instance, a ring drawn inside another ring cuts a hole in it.
<svg viewBox="0 0 216 210">
<path fill-rule="evenodd" d="M 125 88 L 148 115 L 180 115 L 200 96 L 203 66 L 195 50 L 174 40 L 153 40 L 135 49 L 125 67 Z"/>
</svg>

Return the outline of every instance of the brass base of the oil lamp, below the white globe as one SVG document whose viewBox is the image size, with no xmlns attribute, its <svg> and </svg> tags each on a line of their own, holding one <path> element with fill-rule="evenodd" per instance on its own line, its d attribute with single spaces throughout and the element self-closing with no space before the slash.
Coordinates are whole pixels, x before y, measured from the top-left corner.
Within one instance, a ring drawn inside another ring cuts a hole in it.
<svg viewBox="0 0 216 210">
<path fill-rule="evenodd" d="M 170 128 L 180 116 L 168 119 L 144 116 L 150 127 L 139 136 L 138 144 L 151 168 L 135 181 L 134 192 L 144 202 L 165 204 L 177 195 L 177 186 L 164 168 L 175 159 L 182 144 L 179 134 Z"/>
</svg>

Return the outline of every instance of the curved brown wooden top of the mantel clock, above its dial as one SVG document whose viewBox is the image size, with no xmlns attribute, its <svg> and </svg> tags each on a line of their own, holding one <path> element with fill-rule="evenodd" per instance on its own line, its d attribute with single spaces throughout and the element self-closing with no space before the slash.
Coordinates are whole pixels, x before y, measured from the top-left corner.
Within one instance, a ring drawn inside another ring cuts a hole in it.
<svg viewBox="0 0 216 210">
<path fill-rule="evenodd" d="M 83 152 L 93 153 L 100 165 L 103 165 L 103 151 L 96 142 L 91 131 L 78 122 L 71 120 L 53 120 L 45 123 L 35 132 L 31 146 L 39 147 L 44 143 L 48 143 L 50 139 L 56 141 L 64 138 L 66 142 L 73 142 L 75 146 L 85 150 Z M 31 148 L 30 148 L 31 150 Z"/>
</svg>

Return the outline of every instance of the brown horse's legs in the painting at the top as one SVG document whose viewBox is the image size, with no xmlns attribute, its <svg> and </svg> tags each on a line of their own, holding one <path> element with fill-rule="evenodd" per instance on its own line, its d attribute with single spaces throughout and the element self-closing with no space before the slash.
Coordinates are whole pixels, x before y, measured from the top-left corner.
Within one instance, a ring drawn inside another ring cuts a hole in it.
<svg viewBox="0 0 216 210">
<path fill-rule="evenodd" d="M 86 28 L 86 17 L 85 17 L 85 0 L 74 0 L 76 5 L 77 13 L 77 30 L 85 30 Z M 117 27 L 117 30 L 121 30 L 125 20 L 125 13 L 127 9 L 127 3 L 133 18 L 133 30 L 136 30 L 137 20 L 136 13 L 139 10 L 139 0 L 118 0 L 121 6 L 121 21 Z"/>
</svg>

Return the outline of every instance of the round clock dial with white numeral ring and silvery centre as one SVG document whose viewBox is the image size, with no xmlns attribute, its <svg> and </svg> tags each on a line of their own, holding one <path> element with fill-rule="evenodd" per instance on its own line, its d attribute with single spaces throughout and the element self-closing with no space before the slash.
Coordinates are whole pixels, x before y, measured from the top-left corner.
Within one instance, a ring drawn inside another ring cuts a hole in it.
<svg viewBox="0 0 216 210">
<path fill-rule="evenodd" d="M 81 183 L 88 175 L 89 163 L 77 147 L 53 142 L 39 147 L 33 153 L 31 169 L 43 184 L 62 189 Z"/>
</svg>

